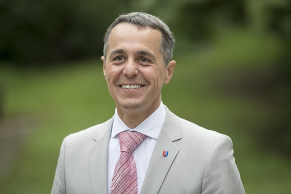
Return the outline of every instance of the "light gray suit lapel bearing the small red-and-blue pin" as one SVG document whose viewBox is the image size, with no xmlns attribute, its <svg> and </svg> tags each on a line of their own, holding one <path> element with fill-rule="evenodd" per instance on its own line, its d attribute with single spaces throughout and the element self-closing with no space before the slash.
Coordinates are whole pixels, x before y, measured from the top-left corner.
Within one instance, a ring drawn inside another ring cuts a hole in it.
<svg viewBox="0 0 291 194">
<path fill-rule="evenodd" d="M 178 117 L 166 108 L 166 117 L 155 143 L 140 193 L 157 193 L 179 148 L 172 142 L 181 138 Z M 168 151 L 163 156 L 163 150 Z M 154 177 L 154 178 L 153 178 Z"/>
</svg>

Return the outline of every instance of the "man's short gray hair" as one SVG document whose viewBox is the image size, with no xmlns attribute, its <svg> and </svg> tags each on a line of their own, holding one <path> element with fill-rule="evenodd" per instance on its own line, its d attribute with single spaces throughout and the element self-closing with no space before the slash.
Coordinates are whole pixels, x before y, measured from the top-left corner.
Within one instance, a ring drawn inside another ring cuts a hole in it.
<svg viewBox="0 0 291 194">
<path fill-rule="evenodd" d="M 128 14 L 119 15 L 108 27 L 104 36 L 103 55 L 106 57 L 106 52 L 109 46 L 109 37 L 112 29 L 121 22 L 131 23 L 138 27 L 151 27 L 161 32 L 160 52 L 163 56 L 164 64 L 166 65 L 171 59 L 174 49 L 175 39 L 169 27 L 159 18 L 144 12 L 131 12 Z"/>
</svg>

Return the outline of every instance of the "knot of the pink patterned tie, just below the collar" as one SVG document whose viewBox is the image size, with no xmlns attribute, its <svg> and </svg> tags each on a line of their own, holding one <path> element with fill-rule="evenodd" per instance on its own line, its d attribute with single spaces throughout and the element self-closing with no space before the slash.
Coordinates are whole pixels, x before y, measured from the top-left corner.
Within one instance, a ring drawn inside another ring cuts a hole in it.
<svg viewBox="0 0 291 194">
<path fill-rule="evenodd" d="M 120 151 L 132 153 L 132 151 L 143 141 L 146 137 L 145 134 L 136 131 L 127 131 L 127 132 L 120 132 L 119 136 L 119 143 L 120 143 Z"/>
</svg>

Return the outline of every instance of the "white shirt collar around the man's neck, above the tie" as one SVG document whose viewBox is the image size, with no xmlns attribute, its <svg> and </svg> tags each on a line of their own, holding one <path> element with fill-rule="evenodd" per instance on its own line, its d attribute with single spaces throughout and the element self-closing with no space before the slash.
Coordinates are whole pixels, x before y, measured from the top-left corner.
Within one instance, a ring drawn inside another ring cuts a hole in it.
<svg viewBox="0 0 291 194">
<path fill-rule="evenodd" d="M 130 129 L 118 116 L 117 109 L 115 108 L 111 138 L 116 136 L 119 132 L 133 130 L 141 132 L 154 139 L 157 139 L 164 119 L 165 119 L 165 108 L 162 101 L 160 101 L 158 108 L 153 113 L 151 113 L 145 120 L 143 120 L 135 128 Z"/>
</svg>

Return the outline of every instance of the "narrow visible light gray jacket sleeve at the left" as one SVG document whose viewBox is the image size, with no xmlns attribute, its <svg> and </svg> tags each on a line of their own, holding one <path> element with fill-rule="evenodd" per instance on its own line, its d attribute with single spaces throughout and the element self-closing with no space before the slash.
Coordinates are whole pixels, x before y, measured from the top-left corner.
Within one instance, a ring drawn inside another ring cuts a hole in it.
<svg viewBox="0 0 291 194">
<path fill-rule="evenodd" d="M 64 151 L 65 139 L 62 141 L 59 157 L 57 160 L 54 180 L 52 184 L 51 194 L 65 194 L 65 177 L 64 177 Z"/>
</svg>

